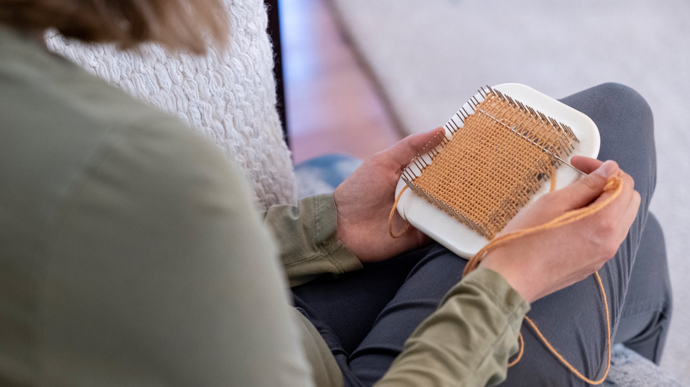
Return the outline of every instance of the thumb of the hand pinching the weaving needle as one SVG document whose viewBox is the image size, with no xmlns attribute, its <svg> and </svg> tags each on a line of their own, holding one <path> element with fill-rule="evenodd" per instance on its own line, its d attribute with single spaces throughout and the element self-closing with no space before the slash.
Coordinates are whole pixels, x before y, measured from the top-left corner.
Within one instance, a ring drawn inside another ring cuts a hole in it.
<svg viewBox="0 0 690 387">
<path fill-rule="evenodd" d="M 609 177 L 617 175 L 618 171 L 615 161 L 606 161 L 589 175 L 562 190 L 553 192 L 555 200 L 568 210 L 587 206 L 602 194 Z"/>
</svg>

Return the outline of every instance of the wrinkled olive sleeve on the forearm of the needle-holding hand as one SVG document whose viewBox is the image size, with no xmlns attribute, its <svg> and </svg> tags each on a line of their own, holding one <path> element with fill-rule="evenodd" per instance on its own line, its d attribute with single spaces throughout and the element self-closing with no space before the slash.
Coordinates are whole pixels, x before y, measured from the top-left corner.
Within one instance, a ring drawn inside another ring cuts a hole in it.
<svg viewBox="0 0 690 387">
<path fill-rule="evenodd" d="M 405 342 L 375 387 L 495 386 L 506 379 L 529 304 L 497 272 L 478 268 Z"/>
</svg>

